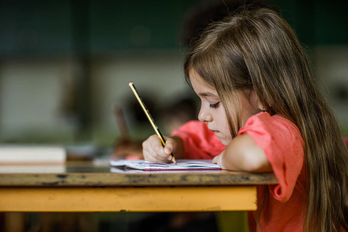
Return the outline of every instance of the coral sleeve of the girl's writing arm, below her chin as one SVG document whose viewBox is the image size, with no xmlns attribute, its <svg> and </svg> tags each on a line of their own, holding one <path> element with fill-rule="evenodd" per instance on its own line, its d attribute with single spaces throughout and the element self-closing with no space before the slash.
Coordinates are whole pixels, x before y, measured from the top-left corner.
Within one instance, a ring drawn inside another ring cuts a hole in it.
<svg viewBox="0 0 348 232">
<path fill-rule="evenodd" d="M 226 149 L 213 131 L 208 129 L 205 122 L 189 121 L 174 130 L 171 135 L 182 139 L 184 159 L 213 159 Z"/>
</svg>

